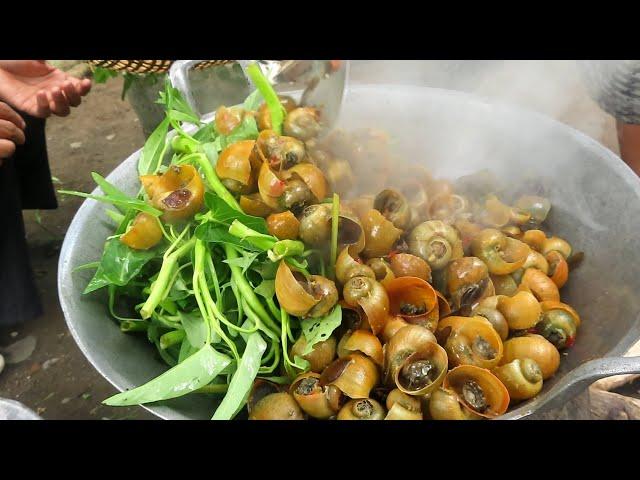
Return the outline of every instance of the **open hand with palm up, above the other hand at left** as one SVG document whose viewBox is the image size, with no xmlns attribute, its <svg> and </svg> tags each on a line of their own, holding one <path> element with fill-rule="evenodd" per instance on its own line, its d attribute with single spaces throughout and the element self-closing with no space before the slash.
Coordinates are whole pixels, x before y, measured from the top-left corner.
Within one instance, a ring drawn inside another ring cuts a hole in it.
<svg viewBox="0 0 640 480">
<path fill-rule="evenodd" d="M 0 99 L 46 118 L 69 115 L 91 90 L 91 80 L 67 75 L 43 60 L 0 60 Z"/>
</svg>

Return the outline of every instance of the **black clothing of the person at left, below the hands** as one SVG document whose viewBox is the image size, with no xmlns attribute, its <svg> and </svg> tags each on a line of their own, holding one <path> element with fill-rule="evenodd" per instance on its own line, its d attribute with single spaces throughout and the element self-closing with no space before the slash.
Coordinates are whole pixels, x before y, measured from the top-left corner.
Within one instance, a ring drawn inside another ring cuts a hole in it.
<svg viewBox="0 0 640 480">
<path fill-rule="evenodd" d="M 42 314 L 22 210 L 58 206 L 47 156 L 45 120 L 19 113 L 27 124 L 26 142 L 0 165 L 0 327 Z"/>
</svg>

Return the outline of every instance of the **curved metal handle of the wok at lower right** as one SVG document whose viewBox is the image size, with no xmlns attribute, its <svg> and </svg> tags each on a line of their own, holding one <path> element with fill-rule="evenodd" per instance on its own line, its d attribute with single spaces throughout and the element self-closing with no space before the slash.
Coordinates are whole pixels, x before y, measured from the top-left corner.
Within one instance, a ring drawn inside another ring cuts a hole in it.
<svg viewBox="0 0 640 480">
<path fill-rule="evenodd" d="M 536 405 L 535 411 L 543 413 L 562 407 L 601 378 L 633 373 L 640 373 L 640 357 L 605 357 L 590 360 L 569 372 L 561 384 L 554 385 Z"/>
</svg>

